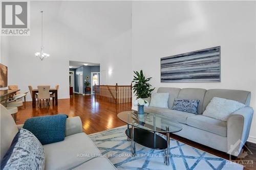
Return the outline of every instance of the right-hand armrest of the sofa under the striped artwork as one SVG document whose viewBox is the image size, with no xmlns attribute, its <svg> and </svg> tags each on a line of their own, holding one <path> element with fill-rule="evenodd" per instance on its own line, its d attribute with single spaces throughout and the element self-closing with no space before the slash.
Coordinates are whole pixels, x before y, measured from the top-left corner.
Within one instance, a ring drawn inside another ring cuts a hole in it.
<svg viewBox="0 0 256 170">
<path fill-rule="evenodd" d="M 238 156 L 248 139 L 253 109 L 243 107 L 231 113 L 227 119 L 227 149 L 228 154 Z"/>
</svg>

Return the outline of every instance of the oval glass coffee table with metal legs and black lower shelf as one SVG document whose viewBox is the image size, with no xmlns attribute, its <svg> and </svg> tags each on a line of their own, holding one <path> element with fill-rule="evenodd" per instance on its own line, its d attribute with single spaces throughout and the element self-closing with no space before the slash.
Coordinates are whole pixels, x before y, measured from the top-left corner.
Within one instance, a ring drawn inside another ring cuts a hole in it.
<svg viewBox="0 0 256 170">
<path fill-rule="evenodd" d="M 132 142 L 133 156 L 136 153 L 135 143 L 139 143 L 147 148 L 164 150 L 164 163 L 169 165 L 170 133 L 182 130 L 182 126 L 178 122 L 154 113 L 139 115 L 134 110 L 120 112 L 117 117 L 127 124 L 125 134 L 127 140 Z M 165 133 L 166 139 L 156 134 L 156 132 Z"/>
</svg>

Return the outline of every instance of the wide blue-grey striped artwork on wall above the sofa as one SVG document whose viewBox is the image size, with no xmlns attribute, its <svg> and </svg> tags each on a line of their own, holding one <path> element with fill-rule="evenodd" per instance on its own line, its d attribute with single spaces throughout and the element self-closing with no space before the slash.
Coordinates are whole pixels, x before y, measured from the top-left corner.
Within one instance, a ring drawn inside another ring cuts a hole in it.
<svg viewBox="0 0 256 170">
<path fill-rule="evenodd" d="M 221 46 L 161 58 L 161 82 L 221 82 Z"/>
</svg>

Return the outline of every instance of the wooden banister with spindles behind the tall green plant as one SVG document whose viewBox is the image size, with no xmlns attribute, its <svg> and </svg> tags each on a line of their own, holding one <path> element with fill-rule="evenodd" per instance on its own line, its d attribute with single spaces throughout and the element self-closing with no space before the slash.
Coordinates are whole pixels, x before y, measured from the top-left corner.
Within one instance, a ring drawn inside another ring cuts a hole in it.
<svg viewBox="0 0 256 170">
<path fill-rule="evenodd" d="M 115 104 L 132 103 L 131 85 L 95 85 L 95 99 L 103 99 Z"/>
</svg>

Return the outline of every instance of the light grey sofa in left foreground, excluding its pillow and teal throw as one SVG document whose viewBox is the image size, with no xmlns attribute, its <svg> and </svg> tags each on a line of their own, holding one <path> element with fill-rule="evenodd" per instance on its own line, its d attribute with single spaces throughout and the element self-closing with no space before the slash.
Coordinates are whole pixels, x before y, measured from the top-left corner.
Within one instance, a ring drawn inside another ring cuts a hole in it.
<svg viewBox="0 0 256 170">
<path fill-rule="evenodd" d="M 1 161 L 10 148 L 11 142 L 22 128 L 16 126 L 12 116 L 1 105 Z M 116 169 L 88 137 L 82 132 L 80 117 L 67 118 L 65 140 L 43 145 L 46 162 L 45 169 Z"/>
</svg>

